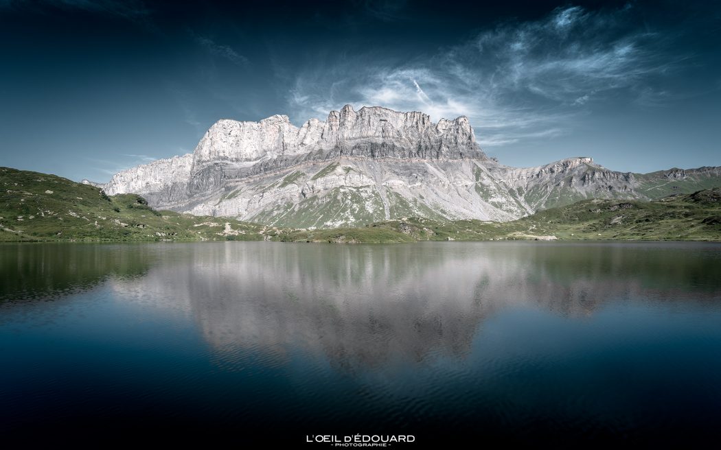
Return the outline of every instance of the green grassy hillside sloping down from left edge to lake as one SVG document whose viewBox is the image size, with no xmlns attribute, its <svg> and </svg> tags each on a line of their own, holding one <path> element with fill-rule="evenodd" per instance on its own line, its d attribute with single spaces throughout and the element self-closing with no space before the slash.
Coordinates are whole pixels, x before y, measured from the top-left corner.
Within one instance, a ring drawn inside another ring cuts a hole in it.
<svg viewBox="0 0 721 450">
<path fill-rule="evenodd" d="M 0 168 L 0 241 L 262 240 L 261 225 L 156 211 L 134 194 Z M 273 233 L 273 230 L 265 230 Z"/>
</svg>

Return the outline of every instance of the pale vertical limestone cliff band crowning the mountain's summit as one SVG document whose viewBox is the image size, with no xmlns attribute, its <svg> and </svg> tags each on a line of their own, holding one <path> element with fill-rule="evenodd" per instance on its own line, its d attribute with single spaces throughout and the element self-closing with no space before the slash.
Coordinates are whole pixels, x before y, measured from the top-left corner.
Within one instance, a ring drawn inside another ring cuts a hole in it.
<svg viewBox="0 0 721 450">
<path fill-rule="evenodd" d="M 376 145 L 371 145 L 371 144 Z M 218 120 L 198 143 L 193 164 L 249 162 L 339 148 L 340 153 L 376 156 L 443 158 L 459 151 L 478 151 L 466 117 L 434 124 L 422 112 L 396 112 L 381 107 L 355 112 L 346 105 L 331 111 L 326 122 L 311 119 L 295 127 L 288 116 L 275 115 L 260 122 Z"/>
</svg>

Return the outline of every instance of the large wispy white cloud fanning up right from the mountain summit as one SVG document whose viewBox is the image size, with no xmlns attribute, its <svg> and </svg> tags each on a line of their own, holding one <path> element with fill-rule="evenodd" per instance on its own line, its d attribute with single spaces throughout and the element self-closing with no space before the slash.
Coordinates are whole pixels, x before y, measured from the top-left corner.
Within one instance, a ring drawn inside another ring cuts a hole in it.
<svg viewBox="0 0 721 450">
<path fill-rule="evenodd" d="M 433 120 L 466 115 L 481 145 L 553 138 L 619 91 L 638 104 L 664 102 L 668 92 L 651 81 L 684 55 L 665 54 L 665 37 L 640 30 L 632 13 L 570 6 L 499 24 L 423 60 L 318 63 L 298 73 L 288 103 L 298 121 L 350 103 L 420 110 Z"/>
</svg>

